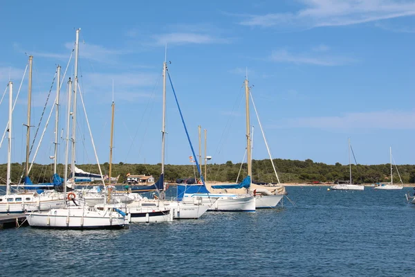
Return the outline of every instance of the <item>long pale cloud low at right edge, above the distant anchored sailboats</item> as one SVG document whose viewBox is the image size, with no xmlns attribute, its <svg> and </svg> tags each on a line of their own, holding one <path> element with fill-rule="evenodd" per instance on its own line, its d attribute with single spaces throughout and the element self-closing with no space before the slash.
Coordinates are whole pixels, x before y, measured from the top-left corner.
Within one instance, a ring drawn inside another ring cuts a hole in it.
<svg viewBox="0 0 415 277">
<path fill-rule="evenodd" d="M 315 129 L 415 129 L 415 111 L 371 111 L 342 116 L 311 116 L 281 120 L 273 127 Z"/>
</svg>

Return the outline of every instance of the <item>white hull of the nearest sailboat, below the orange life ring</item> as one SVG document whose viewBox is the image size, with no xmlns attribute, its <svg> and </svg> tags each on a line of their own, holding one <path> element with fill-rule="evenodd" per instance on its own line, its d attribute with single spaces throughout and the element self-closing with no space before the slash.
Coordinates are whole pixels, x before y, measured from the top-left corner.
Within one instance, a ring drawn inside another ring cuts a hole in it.
<svg viewBox="0 0 415 277">
<path fill-rule="evenodd" d="M 122 229 L 127 224 L 116 211 L 96 211 L 87 207 L 52 209 L 26 213 L 32 227 L 48 229 Z"/>
</svg>

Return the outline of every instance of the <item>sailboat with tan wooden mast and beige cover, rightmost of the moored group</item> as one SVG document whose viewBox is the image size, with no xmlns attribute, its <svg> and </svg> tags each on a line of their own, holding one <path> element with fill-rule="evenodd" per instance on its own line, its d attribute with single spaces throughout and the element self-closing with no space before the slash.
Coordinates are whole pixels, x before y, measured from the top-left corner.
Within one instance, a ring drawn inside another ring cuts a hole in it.
<svg viewBox="0 0 415 277">
<path fill-rule="evenodd" d="M 248 75 L 248 74 L 247 74 Z M 255 208 L 275 208 L 277 204 L 282 200 L 282 197 L 285 195 L 285 188 L 284 186 L 259 186 L 257 184 L 252 184 L 252 133 L 250 132 L 250 111 L 249 111 L 249 100 L 250 100 L 250 89 L 249 89 L 249 81 L 248 77 L 245 80 L 245 94 L 246 94 L 246 152 L 248 153 L 248 177 L 246 177 L 241 184 L 236 185 L 218 185 L 212 186 L 213 189 L 221 189 L 227 192 L 232 193 L 241 193 L 241 189 L 245 188 L 249 191 L 252 195 L 255 196 Z M 275 165 L 273 159 L 270 154 L 270 150 L 268 148 L 268 143 L 265 138 L 264 129 L 262 129 L 261 121 L 259 120 L 259 116 L 257 113 L 257 109 L 255 107 L 255 103 L 253 102 L 253 98 L 251 96 L 252 104 L 255 108 L 255 113 L 257 114 L 257 119 L 259 122 L 259 126 L 261 127 L 261 132 L 264 136 L 264 141 L 266 143 L 266 148 L 268 150 L 268 154 L 270 156 L 271 163 L 273 165 L 273 169 L 275 172 L 275 176 L 277 177 L 278 183 L 279 178 L 277 175 L 277 171 L 275 170 Z"/>
</svg>

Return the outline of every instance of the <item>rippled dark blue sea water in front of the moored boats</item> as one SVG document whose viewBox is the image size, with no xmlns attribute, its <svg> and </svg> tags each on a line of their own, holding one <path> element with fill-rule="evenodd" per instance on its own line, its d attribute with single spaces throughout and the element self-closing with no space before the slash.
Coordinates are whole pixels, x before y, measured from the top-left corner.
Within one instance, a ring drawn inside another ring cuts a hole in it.
<svg viewBox="0 0 415 277">
<path fill-rule="evenodd" d="M 121 231 L 6 229 L 0 276 L 415 276 L 412 188 L 287 190 L 295 206 L 256 213 Z"/>
</svg>

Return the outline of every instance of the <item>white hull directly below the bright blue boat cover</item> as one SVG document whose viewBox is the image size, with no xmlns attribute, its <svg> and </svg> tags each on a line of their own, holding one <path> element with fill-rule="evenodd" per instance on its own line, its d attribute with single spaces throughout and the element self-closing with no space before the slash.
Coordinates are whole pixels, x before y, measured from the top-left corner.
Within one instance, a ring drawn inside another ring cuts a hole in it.
<svg viewBox="0 0 415 277">
<path fill-rule="evenodd" d="M 183 202 L 193 202 L 195 197 L 201 199 L 202 204 L 210 206 L 208 211 L 255 212 L 255 197 L 252 195 L 185 193 Z"/>
</svg>

